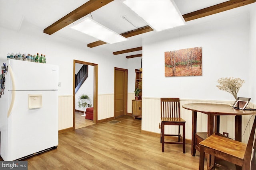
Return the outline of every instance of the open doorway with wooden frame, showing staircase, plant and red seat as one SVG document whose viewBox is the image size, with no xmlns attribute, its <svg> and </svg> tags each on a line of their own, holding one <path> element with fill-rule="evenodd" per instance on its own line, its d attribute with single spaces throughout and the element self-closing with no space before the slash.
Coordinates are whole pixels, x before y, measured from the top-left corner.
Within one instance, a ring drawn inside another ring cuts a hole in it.
<svg viewBox="0 0 256 170">
<path fill-rule="evenodd" d="M 96 123 L 98 106 L 98 64 L 74 60 L 73 129 Z"/>
</svg>

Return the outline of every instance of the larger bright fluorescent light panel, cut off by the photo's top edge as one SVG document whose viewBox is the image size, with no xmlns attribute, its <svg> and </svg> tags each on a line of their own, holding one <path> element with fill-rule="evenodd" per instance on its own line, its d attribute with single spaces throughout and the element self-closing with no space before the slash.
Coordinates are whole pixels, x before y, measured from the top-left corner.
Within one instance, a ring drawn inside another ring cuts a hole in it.
<svg viewBox="0 0 256 170">
<path fill-rule="evenodd" d="M 124 4 L 156 31 L 185 24 L 173 0 L 125 0 Z"/>
</svg>

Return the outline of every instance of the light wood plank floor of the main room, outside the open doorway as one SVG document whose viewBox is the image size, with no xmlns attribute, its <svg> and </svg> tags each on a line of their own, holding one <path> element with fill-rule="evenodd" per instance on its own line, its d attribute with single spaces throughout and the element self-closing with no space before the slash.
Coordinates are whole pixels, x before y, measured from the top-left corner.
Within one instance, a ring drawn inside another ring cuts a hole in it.
<svg viewBox="0 0 256 170">
<path fill-rule="evenodd" d="M 57 149 L 27 159 L 28 170 L 198 170 L 199 153 L 191 145 L 165 145 L 140 133 L 141 120 L 97 123 L 59 135 Z"/>
</svg>

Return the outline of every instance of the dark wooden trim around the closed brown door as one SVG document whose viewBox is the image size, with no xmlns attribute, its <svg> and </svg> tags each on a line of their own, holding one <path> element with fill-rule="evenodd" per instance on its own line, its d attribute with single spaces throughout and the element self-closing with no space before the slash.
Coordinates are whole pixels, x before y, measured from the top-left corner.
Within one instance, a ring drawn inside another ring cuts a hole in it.
<svg viewBox="0 0 256 170">
<path fill-rule="evenodd" d="M 114 92 L 116 90 L 116 70 L 124 71 L 124 115 L 127 115 L 127 96 L 128 96 L 128 70 L 124 68 L 114 68 Z M 116 97 L 114 94 L 114 108 L 116 105 Z M 115 115 L 115 109 L 114 109 L 114 117 Z"/>
</svg>

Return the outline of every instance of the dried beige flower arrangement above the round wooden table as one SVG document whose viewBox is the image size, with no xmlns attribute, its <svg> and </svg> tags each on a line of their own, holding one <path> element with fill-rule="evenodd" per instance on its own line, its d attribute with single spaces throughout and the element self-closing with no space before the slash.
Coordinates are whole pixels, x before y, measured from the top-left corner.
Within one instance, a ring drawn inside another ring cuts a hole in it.
<svg viewBox="0 0 256 170">
<path fill-rule="evenodd" d="M 233 78 L 233 77 L 225 77 L 225 78 L 220 78 L 218 79 L 218 83 L 220 85 L 217 85 L 217 87 L 220 90 L 229 92 L 234 96 L 234 98 L 237 98 L 237 93 L 244 84 L 244 80 L 241 80 L 240 78 Z"/>
</svg>

